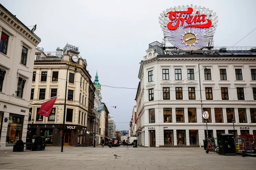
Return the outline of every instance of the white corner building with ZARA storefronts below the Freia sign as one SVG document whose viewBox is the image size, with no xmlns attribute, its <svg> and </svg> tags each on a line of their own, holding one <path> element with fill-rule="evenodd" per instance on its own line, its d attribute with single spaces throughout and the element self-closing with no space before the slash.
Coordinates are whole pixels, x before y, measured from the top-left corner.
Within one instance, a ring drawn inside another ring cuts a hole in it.
<svg viewBox="0 0 256 170">
<path fill-rule="evenodd" d="M 142 146 L 203 145 L 202 111 L 210 114 L 208 137 L 233 133 L 232 119 L 235 136 L 256 137 L 255 48 L 170 55 L 160 48 L 150 47 L 140 63 L 136 103 Z"/>
</svg>

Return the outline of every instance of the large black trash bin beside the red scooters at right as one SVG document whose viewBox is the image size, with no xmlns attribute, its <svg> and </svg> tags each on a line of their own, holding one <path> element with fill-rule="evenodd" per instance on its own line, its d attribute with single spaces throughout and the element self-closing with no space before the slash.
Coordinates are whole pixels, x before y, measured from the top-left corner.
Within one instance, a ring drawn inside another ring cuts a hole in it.
<svg viewBox="0 0 256 170">
<path fill-rule="evenodd" d="M 236 155 L 233 134 L 219 134 L 218 145 L 220 155 Z"/>
</svg>

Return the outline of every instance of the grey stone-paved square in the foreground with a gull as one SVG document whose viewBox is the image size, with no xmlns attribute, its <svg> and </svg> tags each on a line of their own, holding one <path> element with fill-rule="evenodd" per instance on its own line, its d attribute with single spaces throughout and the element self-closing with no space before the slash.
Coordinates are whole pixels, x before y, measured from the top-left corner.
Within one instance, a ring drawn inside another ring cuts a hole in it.
<svg viewBox="0 0 256 170">
<path fill-rule="evenodd" d="M 46 147 L 44 151 L 0 151 L 0 169 L 230 169 L 255 170 L 256 158 L 205 153 L 203 148 Z M 7 153 L 5 153 L 7 152 Z M 112 152 L 121 157 L 115 159 Z"/>
</svg>

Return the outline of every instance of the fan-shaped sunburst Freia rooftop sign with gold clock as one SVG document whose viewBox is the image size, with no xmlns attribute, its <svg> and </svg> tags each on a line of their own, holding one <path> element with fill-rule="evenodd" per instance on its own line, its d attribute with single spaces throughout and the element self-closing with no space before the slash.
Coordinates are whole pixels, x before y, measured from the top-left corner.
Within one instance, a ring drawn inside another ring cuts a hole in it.
<svg viewBox="0 0 256 170">
<path fill-rule="evenodd" d="M 201 6 L 178 6 L 166 9 L 159 16 L 165 37 L 181 50 L 200 50 L 212 41 L 218 16 Z"/>
</svg>

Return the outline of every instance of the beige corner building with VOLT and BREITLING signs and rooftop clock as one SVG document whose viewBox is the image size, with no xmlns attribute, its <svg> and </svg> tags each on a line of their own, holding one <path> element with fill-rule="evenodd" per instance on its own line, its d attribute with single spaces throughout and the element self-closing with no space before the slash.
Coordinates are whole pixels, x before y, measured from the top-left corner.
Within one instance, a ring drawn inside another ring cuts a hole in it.
<svg viewBox="0 0 256 170">
<path fill-rule="evenodd" d="M 31 105 L 27 142 L 33 137 L 44 136 L 46 144 L 61 146 L 67 78 L 64 146 L 87 146 L 88 89 L 91 76 L 86 70 L 86 60 L 79 55 L 78 47 L 67 44 L 63 49 L 57 47 L 56 55 L 36 49 L 30 103 L 54 96 L 57 96 L 57 100 L 49 118 L 37 114 L 44 101 Z"/>
</svg>

